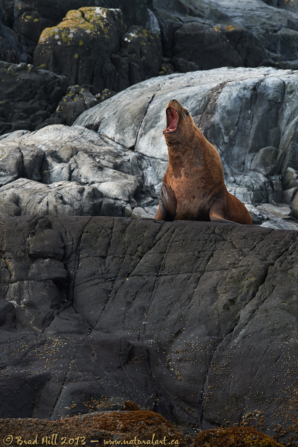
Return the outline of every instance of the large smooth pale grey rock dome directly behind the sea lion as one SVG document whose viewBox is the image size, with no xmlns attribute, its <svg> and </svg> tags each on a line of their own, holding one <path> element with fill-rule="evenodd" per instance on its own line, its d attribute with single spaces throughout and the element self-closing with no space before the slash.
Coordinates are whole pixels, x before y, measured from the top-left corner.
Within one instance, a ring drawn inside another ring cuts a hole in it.
<svg viewBox="0 0 298 447">
<path fill-rule="evenodd" d="M 148 157 L 144 183 L 159 190 L 168 159 L 162 137 L 164 108 L 176 98 L 218 149 L 232 194 L 254 206 L 282 203 L 283 190 L 296 186 L 297 80 L 297 73 L 264 67 L 169 75 L 119 93 L 84 112 L 75 124 Z"/>
</svg>

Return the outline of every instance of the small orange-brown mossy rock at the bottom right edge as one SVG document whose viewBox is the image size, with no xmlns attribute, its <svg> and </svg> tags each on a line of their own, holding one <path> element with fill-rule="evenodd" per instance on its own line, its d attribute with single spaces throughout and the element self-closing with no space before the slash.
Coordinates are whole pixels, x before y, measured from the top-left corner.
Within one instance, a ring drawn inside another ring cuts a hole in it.
<svg viewBox="0 0 298 447">
<path fill-rule="evenodd" d="M 214 428 L 201 431 L 191 447 L 283 447 L 253 427 Z"/>
</svg>

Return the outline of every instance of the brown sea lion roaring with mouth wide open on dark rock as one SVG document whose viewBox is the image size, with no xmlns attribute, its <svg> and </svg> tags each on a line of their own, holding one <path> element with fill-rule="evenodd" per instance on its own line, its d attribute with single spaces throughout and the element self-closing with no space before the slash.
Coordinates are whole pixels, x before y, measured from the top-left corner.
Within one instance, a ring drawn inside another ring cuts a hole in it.
<svg viewBox="0 0 298 447">
<path fill-rule="evenodd" d="M 169 164 L 159 192 L 155 219 L 205 220 L 252 225 L 242 202 L 227 191 L 217 150 L 176 99 L 168 102 Z"/>
</svg>

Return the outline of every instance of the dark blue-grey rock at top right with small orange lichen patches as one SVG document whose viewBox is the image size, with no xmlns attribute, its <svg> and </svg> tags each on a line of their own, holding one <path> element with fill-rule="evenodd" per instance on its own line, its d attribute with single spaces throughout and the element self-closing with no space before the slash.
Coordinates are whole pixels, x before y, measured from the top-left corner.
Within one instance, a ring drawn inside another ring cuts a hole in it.
<svg viewBox="0 0 298 447">
<path fill-rule="evenodd" d="M 165 57 L 180 55 L 202 69 L 264 64 L 287 69 L 297 67 L 298 17 L 292 1 L 284 3 L 291 8 L 257 0 L 154 0 L 153 12 Z"/>
</svg>

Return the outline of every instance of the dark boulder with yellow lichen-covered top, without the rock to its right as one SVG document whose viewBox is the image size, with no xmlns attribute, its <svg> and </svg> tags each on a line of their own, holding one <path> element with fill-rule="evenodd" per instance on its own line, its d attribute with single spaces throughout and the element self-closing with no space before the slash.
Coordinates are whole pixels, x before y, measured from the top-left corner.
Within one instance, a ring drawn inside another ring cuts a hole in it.
<svg viewBox="0 0 298 447">
<path fill-rule="evenodd" d="M 57 27 L 42 32 L 34 51 L 34 65 L 63 73 L 71 84 L 110 88 L 117 76 L 110 56 L 119 50 L 125 30 L 120 9 L 71 10 Z"/>
</svg>

